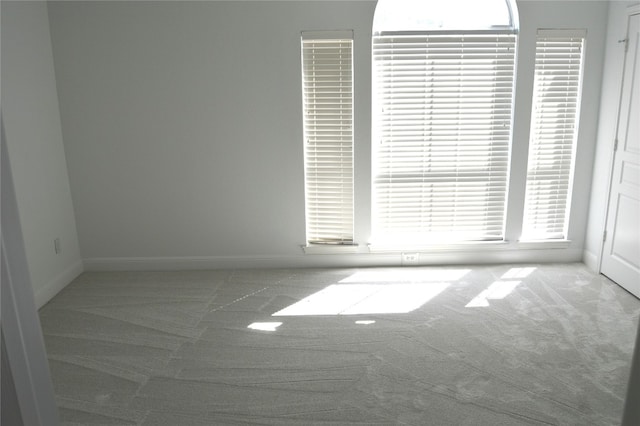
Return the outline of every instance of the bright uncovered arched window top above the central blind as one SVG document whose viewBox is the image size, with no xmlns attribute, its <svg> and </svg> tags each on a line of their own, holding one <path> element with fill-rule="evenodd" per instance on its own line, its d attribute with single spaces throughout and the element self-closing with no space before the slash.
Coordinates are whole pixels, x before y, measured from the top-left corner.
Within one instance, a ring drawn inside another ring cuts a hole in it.
<svg viewBox="0 0 640 426">
<path fill-rule="evenodd" d="M 517 32 L 515 0 L 378 0 L 373 32 Z"/>
</svg>

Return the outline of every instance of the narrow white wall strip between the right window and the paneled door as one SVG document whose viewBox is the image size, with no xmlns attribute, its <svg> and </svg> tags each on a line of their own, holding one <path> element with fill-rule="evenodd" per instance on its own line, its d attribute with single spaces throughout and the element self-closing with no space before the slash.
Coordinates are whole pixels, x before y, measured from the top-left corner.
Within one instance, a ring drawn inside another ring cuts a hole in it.
<svg viewBox="0 0 640 426">
<path fill-rule="evenodd" d="M 618 40 L 622 40 L 626 36 L 626 9 L 633 4 L 638 4 L 638 2 L 609 2 L 602 95 L 584 253 L 585 263 L 595 271 L 600 270 L 602 235 L 605 228 L 613 144 L 616 135 L 624 65 L 624 45 Z"/>
</svg>

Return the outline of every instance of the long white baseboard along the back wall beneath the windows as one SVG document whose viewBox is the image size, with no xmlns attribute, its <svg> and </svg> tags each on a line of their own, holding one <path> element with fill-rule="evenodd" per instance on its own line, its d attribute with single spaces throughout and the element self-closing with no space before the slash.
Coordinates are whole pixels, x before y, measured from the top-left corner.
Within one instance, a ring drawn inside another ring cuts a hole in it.
<svg viewBox="0 0 640 426">
<path fill-rule="evenodd" d="M 419 252 L 404 266 L 496 263 L 582 262 L 582 250 L 484 250 Z M 327 268 L 402 266 L 402 253 L 300 254 L 281 256 L 102 257 L 83 260 L 85 271 L 170 271 L 255 268 Z"/>
</svg>

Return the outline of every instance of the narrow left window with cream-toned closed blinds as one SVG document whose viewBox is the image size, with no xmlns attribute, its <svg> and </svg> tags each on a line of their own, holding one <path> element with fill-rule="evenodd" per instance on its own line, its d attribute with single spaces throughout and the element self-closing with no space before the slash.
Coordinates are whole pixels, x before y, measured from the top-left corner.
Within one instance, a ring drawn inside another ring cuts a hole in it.
<svg viewBox="0 0 640 426">
<path fill-rule="evenodd" d="M 353 243 L 353 33 L 302 33 L 308 244 Z"/>
</svg>

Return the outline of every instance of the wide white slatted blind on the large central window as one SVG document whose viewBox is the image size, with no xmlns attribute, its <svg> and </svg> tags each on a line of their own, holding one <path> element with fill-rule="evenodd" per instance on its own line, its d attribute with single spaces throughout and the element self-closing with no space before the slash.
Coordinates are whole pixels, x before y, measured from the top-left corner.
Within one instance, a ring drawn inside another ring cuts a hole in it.
<svg viewBox="0 0 640 426">
<path fill-rule="evenodd" d="M 374 36 L 376 244 L 500 240 L 515 34 Z"/>
</svg>

